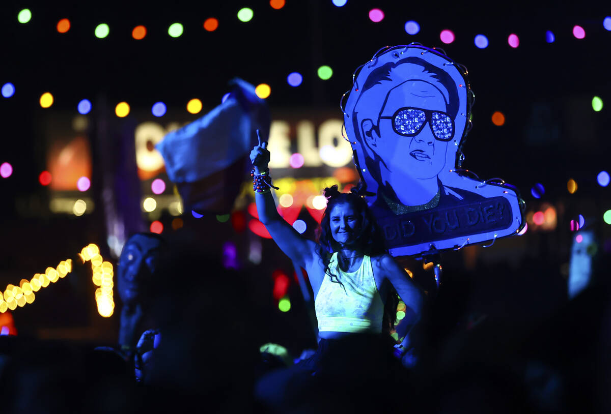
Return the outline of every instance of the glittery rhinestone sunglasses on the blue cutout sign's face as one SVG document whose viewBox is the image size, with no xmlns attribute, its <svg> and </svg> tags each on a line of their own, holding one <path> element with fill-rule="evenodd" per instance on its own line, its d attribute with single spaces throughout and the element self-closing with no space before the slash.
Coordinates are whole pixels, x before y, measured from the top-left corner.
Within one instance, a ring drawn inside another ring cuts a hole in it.
<svg viewBox="0 0 611 414">
<path fill-rule="evenodd" d="M 380 117 L 380 119 L 392 120 L 395 133 L 404 137 L 416 136 L 427 122 L 436 139 L 449 141 L 454 137 L 454 120 L 445 112 L 403 107 L 392 117 Z"/>
</svg>

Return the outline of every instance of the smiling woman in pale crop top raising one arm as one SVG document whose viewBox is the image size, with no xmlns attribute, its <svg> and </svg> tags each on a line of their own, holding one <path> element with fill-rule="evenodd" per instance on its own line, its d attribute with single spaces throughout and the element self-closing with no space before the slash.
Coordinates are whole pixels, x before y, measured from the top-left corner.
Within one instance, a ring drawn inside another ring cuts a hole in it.
<svg viewBox="0 0 611 414">
<path fill-rule="evenodd" d="M 315 355 L 302 361 L 299 368 L 311 371 L 310 375 L 324 371 L 321 361 L 326 360 L 325 354 L 332 352 L 334 344 L 345 346 L 388 332 L 397 311 L 395 289 L 407 307 L 406 317 L 397 326 L 404 339 L 395 354 L 401 356 L 409 348 L 409 329 L 420 319 L 423 293 L 386 252 L 365 199 L 358 192 L 342 194 L 337 186 L 324 189 L 327 207 L 317 242 L 305 239 L 277 212 L 266 147 L 267 142 L 259 137 L 251 151 L 259 220 L 278 247 L 307 271 L 315 297 L 320 342 Z M 389 297 L 393 307 L 385 314 Z"/>
</svg>

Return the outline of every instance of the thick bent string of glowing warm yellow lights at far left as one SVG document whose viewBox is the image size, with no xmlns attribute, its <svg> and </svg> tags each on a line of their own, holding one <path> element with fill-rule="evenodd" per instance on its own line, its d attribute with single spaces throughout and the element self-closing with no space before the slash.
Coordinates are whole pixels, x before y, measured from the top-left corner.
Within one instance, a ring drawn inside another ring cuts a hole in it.
<svg viewBox="0 0 611 414">
<path fill-rule="evenodd" d="M 104 318 L 112 316 L 114 312 L 112 263 L 104 261 L 100 255 L 100 248 L 95 244 L 83 247 L 79 257 L 83 263 L 91 261 L 93 284 L 99 286 L 95 290 L 98 313 Z M 55 283 L 60 278 L 66 277 L 71 271 L 72 260 L 68 259 L 61 261 L 57 267 L 47 267 L 45 273 L 37 273 L 31 280 L 21 279 L 19 286 L 7 285 L 0 297 L 0 313 L 15 310 L 17 307 L 24 307 L 26 303 L 34 302 L 34 292 L 38 292 L 41 288 L 49 286 L 50 283 Z"/>
</svg>

